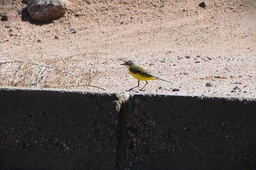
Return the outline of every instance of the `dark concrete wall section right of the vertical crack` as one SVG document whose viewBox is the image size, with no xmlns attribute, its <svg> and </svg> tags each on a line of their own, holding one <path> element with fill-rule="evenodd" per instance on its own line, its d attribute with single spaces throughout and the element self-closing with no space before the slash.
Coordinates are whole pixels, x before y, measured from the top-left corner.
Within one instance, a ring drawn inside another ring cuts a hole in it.
<svg viewBox="0 0 256 170">
<path fill-rule="evenodd" d="M 134 95 L 127 166 L 143 170 L 255 170 L 256 102 Z"/>
</svg>

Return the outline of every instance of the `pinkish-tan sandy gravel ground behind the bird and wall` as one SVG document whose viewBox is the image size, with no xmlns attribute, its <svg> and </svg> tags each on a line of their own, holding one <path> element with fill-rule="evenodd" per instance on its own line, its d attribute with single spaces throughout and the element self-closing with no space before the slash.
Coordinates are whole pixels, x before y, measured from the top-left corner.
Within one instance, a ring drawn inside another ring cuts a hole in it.
<svg viewBox="0 0 256 170">
<path fill-rule="evenodd" d="M 149 82 L 140 93 L 256 97 L 256 1 L 207 0 L 205 9 L 200 2 L 70 0 L 67 14 L 47 24 L 23 11 L 0 22 L 0 60 L 98 52 L 94 64 L 105 76 L 93 83 L 109 90 L 137 85 L 120 65 L 133 60 L 174 82 Z M 0 1 L 0 13 L 25 7 L 21 0 Z"/>
</svg>

